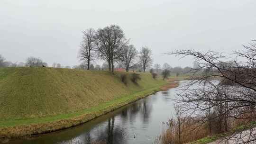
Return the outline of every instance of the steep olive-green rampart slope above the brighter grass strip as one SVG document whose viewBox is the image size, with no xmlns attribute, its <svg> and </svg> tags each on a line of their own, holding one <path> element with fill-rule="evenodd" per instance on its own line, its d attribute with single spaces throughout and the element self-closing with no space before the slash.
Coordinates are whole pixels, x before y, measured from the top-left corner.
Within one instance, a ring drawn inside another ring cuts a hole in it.
<svg viewBox="0 0 256 144">
<path fill-rule="evenodd" d="M 71 113 L 137 91 L 162 85 L 149 73 L 137 84 L 106 71 L 58 68 L 1 68 L 0 119 L 23 119 Z"/>
</svg>

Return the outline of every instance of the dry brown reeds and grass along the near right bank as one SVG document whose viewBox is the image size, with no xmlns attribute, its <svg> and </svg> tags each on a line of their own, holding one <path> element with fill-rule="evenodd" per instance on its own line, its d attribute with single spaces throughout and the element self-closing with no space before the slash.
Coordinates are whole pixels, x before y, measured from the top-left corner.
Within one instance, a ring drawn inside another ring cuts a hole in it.
<svg viewBox="0 0 256 144">
<path fill-rule="evenodd" d="M 256 119 L 229 119 L 229 129 L 224 135 L 244 131 L 250 127 L 255 127 Z M 177 121 L 174 119 L 169 120 L 167 129 L 163 131 L 162 135 L 157 137 L 156 144 L 198 144 L 197 140 L 205 138 L 207 136 L 216 137 L 216 135 L 222 134 L 218 131 L 214 131 L 214 126 L 210 133 L 209 124 L 207 122 L 201 123 L 200 118 L 195 117 L 183 117 L 181 125 L 181 140 L 179 143 Z M 215 127 L 216 129 L 216 127 Z M 201 144 L 201 143 L 200 143 Z"/>
</svg>

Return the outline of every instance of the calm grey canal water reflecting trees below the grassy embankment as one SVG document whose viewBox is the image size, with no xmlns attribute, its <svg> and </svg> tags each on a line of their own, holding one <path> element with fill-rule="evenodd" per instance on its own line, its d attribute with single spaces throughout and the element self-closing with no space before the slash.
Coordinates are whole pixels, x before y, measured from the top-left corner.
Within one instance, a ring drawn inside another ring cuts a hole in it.
<svg viewBox="0 0 256 144">
<path fill-rule="evenodd" d="M 153 144 L 163 131 L 163 122 L 174 114 L 175 93 L 186 82 L 180 81 L 178 88 L 159 91 L 83 125 L 6 144 Z"/>
</svg>

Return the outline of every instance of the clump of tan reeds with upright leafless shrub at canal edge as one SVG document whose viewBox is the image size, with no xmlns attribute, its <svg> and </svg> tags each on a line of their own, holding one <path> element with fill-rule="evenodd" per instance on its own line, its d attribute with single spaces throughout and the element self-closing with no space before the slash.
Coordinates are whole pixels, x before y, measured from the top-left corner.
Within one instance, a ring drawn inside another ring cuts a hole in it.
<svg viewBox="0 0 256 144">
<path fill-rule="evenodd" d="M 158 143 L 184 144 L 209 135 L 207 124 L 201 125 L 201 117 L 186 116 L 182 107 L 175 106 L 174 118 L 166 122 L 167 129 L 158 137 Z"/>
</svg>

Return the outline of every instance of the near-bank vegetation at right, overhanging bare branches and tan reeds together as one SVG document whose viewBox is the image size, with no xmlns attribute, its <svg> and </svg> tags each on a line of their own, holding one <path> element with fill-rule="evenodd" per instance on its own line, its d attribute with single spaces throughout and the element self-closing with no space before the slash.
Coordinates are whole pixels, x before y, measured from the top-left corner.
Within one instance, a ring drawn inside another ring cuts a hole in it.
<svg viewBox="0 0 256 144">
<path fill-rule="evenodd" d="M 256 40 L 243 47 L 230 55 L 193 50 L 170 53 L 192 56 L 200 67 L 191 71 L 190 83 L 177 94 L 174 118 L 157 142 L 184 144 L 208 136 L 194 142 L 205 144 L 216 140 L 216 135 L 234 144 L 256 142 Z"/>
</svg>

